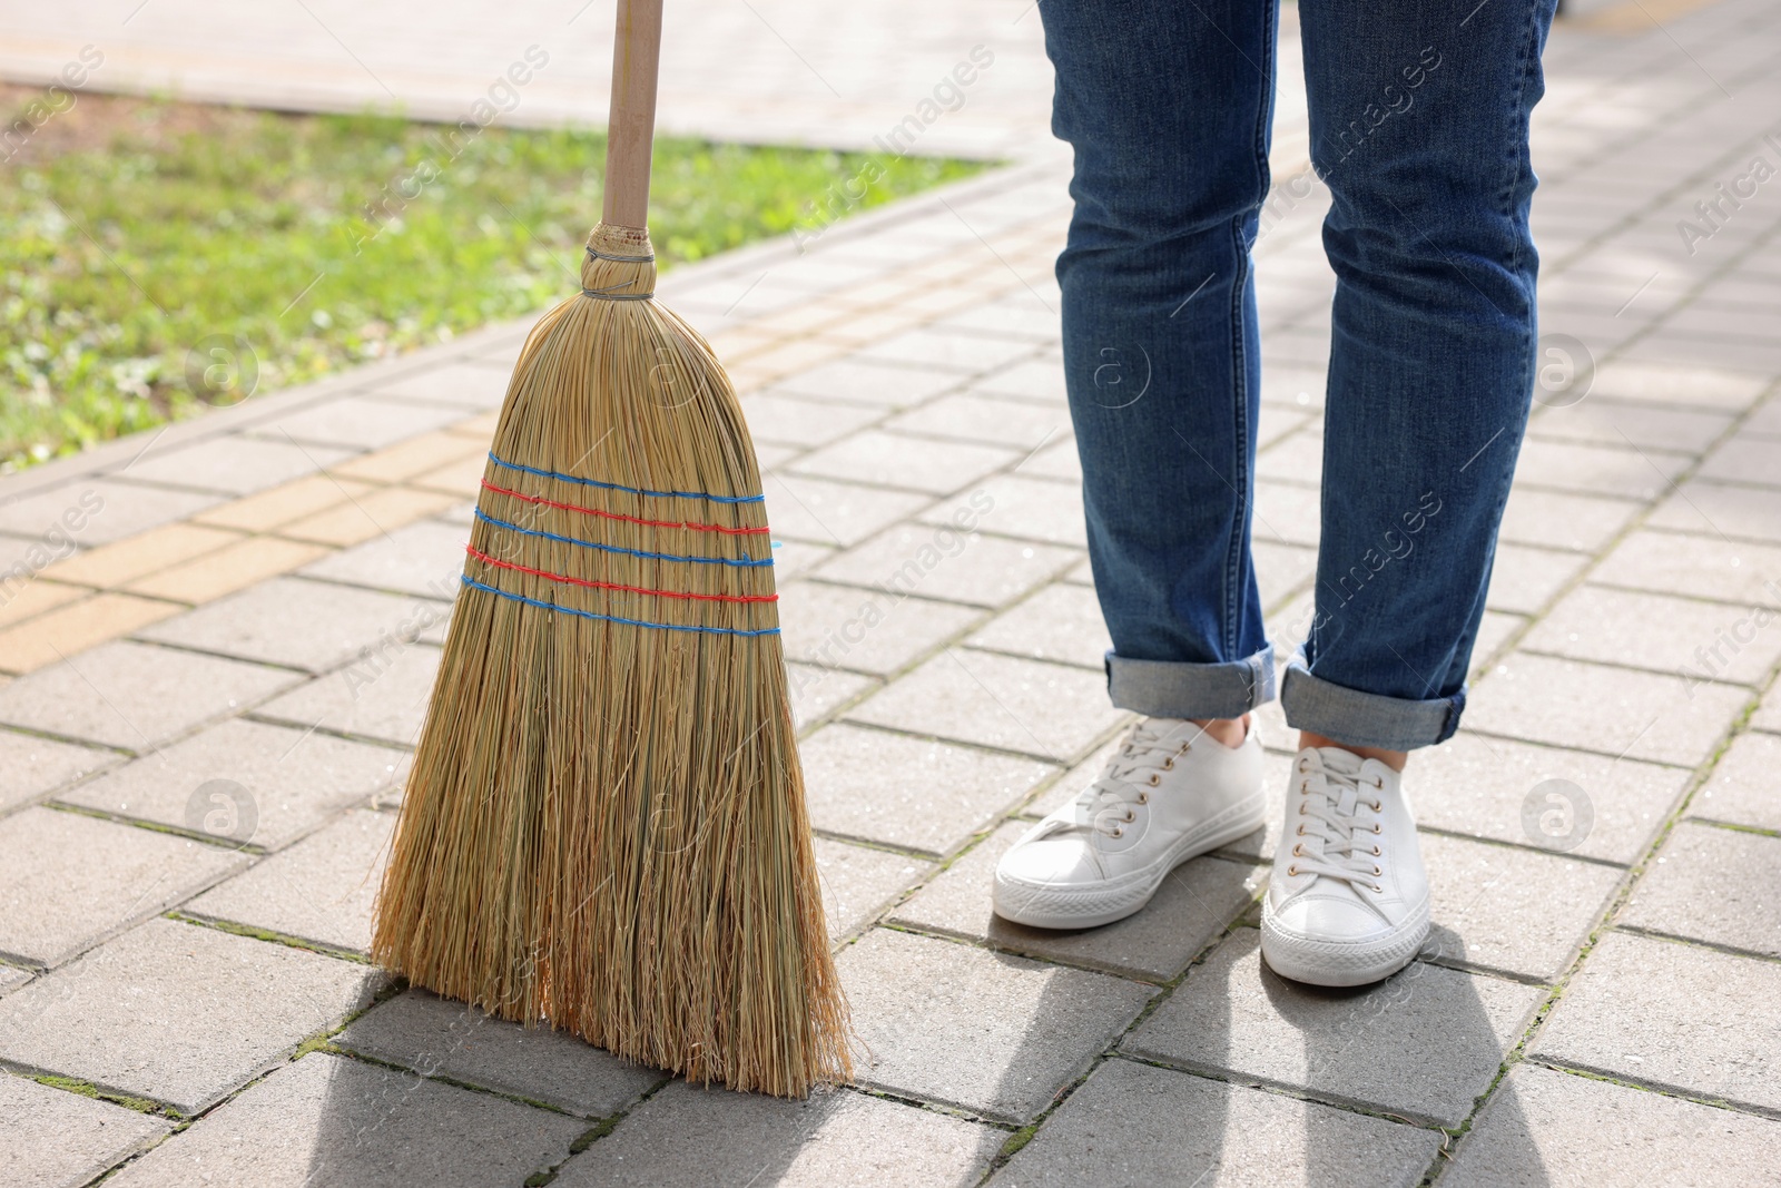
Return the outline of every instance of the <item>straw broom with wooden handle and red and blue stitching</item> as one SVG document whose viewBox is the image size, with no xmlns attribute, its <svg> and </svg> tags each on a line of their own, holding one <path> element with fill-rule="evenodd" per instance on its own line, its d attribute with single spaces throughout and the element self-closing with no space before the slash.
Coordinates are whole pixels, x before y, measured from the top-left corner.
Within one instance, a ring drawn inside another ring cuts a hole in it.
<svg viewBox="0 0 1781 1188">
<path fill-rule="evenodd" d="M 606 208 L 508 385 L 378 896 L 413 985 L 703 1083 L 846 1079 L 755 451 L 652 299 L 661 0 L 618 0 Z"/>
</svg>

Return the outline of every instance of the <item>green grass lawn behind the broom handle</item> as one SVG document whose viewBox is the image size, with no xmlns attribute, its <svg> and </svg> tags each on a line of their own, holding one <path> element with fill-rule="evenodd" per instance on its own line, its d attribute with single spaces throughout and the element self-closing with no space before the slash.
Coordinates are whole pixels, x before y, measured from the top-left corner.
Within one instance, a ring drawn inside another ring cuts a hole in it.
<svg viewBox="0 0 1781 1188">
<path fill-rule="evenodd" d="M 549 306 L 604 162 L 600 132 L 82 94 L 0 162 L 0 472 Z M 664 139 L 650 232 L 671 267 L 980 167 Z"/>
</svg>

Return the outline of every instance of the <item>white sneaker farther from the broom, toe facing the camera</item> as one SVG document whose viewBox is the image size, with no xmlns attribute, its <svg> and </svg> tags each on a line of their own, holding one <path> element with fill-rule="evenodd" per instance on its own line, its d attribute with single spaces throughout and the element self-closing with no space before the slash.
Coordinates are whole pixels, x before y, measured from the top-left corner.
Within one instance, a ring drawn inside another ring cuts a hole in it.
<svg viewBox="0 0 1781 1188">
<path fill-rule="evenodd" d="M 1307 746 L 1286 789 L 1286 828 L 1261 905 L 1273 972 L 1355 987 L 1403 969 L 1428 935 L 1428 875 L 1403 777 L 1336 746 Z"/>
</svg>

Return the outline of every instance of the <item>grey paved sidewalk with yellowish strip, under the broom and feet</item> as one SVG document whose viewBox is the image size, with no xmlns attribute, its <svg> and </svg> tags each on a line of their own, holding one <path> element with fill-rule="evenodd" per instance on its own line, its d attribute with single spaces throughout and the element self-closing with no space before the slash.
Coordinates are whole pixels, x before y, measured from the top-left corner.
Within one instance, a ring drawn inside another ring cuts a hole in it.
<svg viewBox="0 0 1781 1188">
<path fill-rule="evenodd" d="M 435 27 L 454 16 L 426 28 L 449 41 Z M 1435 894 L 1421 960 L 1354 994 L 1266 972 L 1273 826 L 1104 930 L 990 915 L 996 857 L 1126 721 L 1063 406 L 1065 175 L 1022 150 L 805 253 L 768 244 L 661 285 L 730 365 L 766 467 L 860 1083 L 805 1104 L 700 1092 L 392 994 L 365 964 L 525 330 L 495 326 L 0 483 L 7 1177 L 1767 1176 L 1781 180 L 1751 162 L 1781 167 L 1781 12 L 1646 0 L 1585 23 L 1553 37 L 1537 121 L 1541 408 L 1466 728 L 1411 775 Z M 1293 110 L 1257 248 L 1257 557 L 1288 652 L 1318 541 L 1332 283 Z M 1042 105 L 1024 118 L 1042 144 Z M 1263 728 L 1279 796 L 1277 707 Z"/>
</svg>

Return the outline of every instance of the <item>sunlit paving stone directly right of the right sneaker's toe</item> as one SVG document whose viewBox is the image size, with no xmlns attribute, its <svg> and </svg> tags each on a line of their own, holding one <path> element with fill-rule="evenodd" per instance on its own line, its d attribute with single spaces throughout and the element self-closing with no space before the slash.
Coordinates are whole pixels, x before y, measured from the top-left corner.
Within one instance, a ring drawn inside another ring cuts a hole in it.
<svg viewBox="0 0 1781 1188">
<path fill-rule="evenodd" d="M 1434 896 L 1423 955 L 1537 981 L 1557 981 L 1622 875 L 1443 834 L 1421 834 L 1419 842 Z"/>
</svg>

